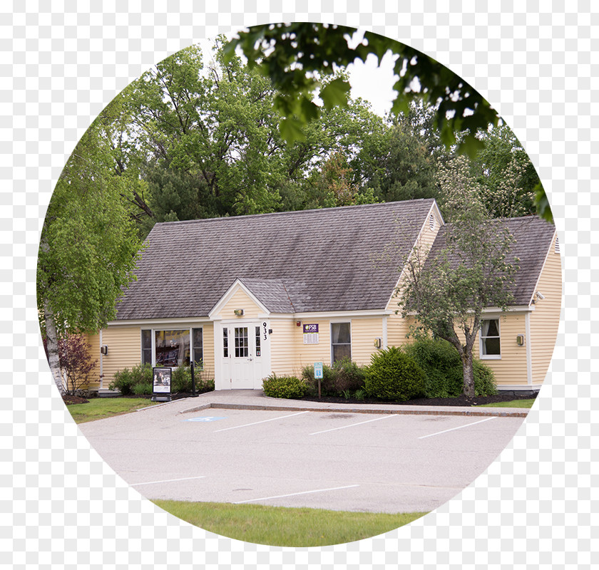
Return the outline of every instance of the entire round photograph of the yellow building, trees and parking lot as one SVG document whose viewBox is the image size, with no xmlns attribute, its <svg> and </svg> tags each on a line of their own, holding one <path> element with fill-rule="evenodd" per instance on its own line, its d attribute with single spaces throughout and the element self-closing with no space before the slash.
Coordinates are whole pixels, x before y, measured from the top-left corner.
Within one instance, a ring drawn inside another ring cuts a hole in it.
<svg viewBox="0 0 599 570">
<path fill-rule="evenodd" d="M 123 480 L 225 537 L 324 546 L 423 517 L 508 445 L 561 264 L 536 170 L 472 86 L 374 33 L 270 24 L 108 104 L 53 192 L 37 288 L 56 388 Z"/>
</svg>

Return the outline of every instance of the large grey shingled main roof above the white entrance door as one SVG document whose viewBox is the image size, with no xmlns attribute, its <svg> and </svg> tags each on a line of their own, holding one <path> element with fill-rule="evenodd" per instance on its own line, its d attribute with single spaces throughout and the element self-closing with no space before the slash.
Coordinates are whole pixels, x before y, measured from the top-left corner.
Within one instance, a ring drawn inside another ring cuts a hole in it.
<svg viewBox="0 0 599 570">
<path fill-rule="evenodd" d="M 117 320 L 207 316 L 235 279 L 272 312 L 384 309 L 433 203 L 155 224 Z M 391 263 L 375 266 L 391 242 Z"/>
</svg>

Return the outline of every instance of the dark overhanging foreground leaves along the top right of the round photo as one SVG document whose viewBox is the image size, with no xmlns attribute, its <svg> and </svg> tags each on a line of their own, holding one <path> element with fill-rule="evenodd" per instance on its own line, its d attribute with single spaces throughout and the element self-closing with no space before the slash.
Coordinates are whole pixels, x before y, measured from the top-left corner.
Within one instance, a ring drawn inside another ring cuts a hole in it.
<svg viewBox="0 0 599 570">
<path fill-rule="evenodd" d="M 337 68 L 346 68 L 356 60 L 375 56 L 380 63 L 386 53 L 395 57 L 396 98 L 391 111 L 409 113 L 412 100 L 434 106 L 434 125 L 446 147 L 474 157 L 483 148 L 479 133 L 497 126 L 500 117 L 488 101 L 464 79 L 424 53 L 376 33 L 365 32 L 356 38 L 356 30 L 334 24 L 295 22 L 261 24 L 238 34 L 226 46 L 232 56 L 242 49 L 262 75 L 272 79 L 277 89 L 275 105 L 281 115 L 280 130 L 286 140 L 302 139 L 302 126 L 322 113 L 312 93 L 320 89 L 324 108 L 347 105 L 349 81 L 336 78 L 326 86 L 322 77 Z M 535 205 L 548 221 L 553 217 L 543 186 L 535 187 Z"/>
</svg>

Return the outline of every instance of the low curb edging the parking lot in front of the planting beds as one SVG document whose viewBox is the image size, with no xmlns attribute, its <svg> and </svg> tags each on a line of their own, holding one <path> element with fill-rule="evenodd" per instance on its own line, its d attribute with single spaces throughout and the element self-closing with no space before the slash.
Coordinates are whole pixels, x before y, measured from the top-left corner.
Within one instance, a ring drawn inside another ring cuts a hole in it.
<svg viewBox="0 0 599 570">
<path fill-rule="evenodd" d="M 298 406 L 298 405 L 276 405 L 276 404 L 237 404 L 225 402 L 210 402 L 204 405 L 180 410 L 179 413 L 193 413 L 208 408 L 219 408 L 222 410 L 273 410 L 284 412 L 334 412 L 334 413 L 362 413 L 362 414 L 409 414 L 409 415 L 466 415 L 473 417 L 496 417 L 496 418 L 526 418 L 527 411 L 519 408 L 432 408 L 429 406 L 402 406 L 401 408 L 374 408 L 367 406 L 345 407 L 334 405 L 321 406 Z"/>
</svg>

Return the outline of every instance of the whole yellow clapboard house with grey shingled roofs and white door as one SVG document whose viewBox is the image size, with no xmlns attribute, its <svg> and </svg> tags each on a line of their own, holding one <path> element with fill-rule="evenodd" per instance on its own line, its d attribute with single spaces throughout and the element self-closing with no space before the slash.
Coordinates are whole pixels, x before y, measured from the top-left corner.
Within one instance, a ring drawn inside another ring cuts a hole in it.
<svg viewBox="0 0 599 570">
<path fill-rule="evenodd" d="M 518 304 L 488 310 L 476 350 L 498 388 L 536 390 L 556 341 L 560 256 L 550 224 L 519 220 Z M 433 247 L 443 226 L 434 199 L 156 224 L 116 320 L 91 338 L 91 389 L 108 392 L 116 371 L 140 362 L 202 361 L 217 390 L 346 356 L 367 364 L 406 343 L 401 260 Z"/>
</svg>

